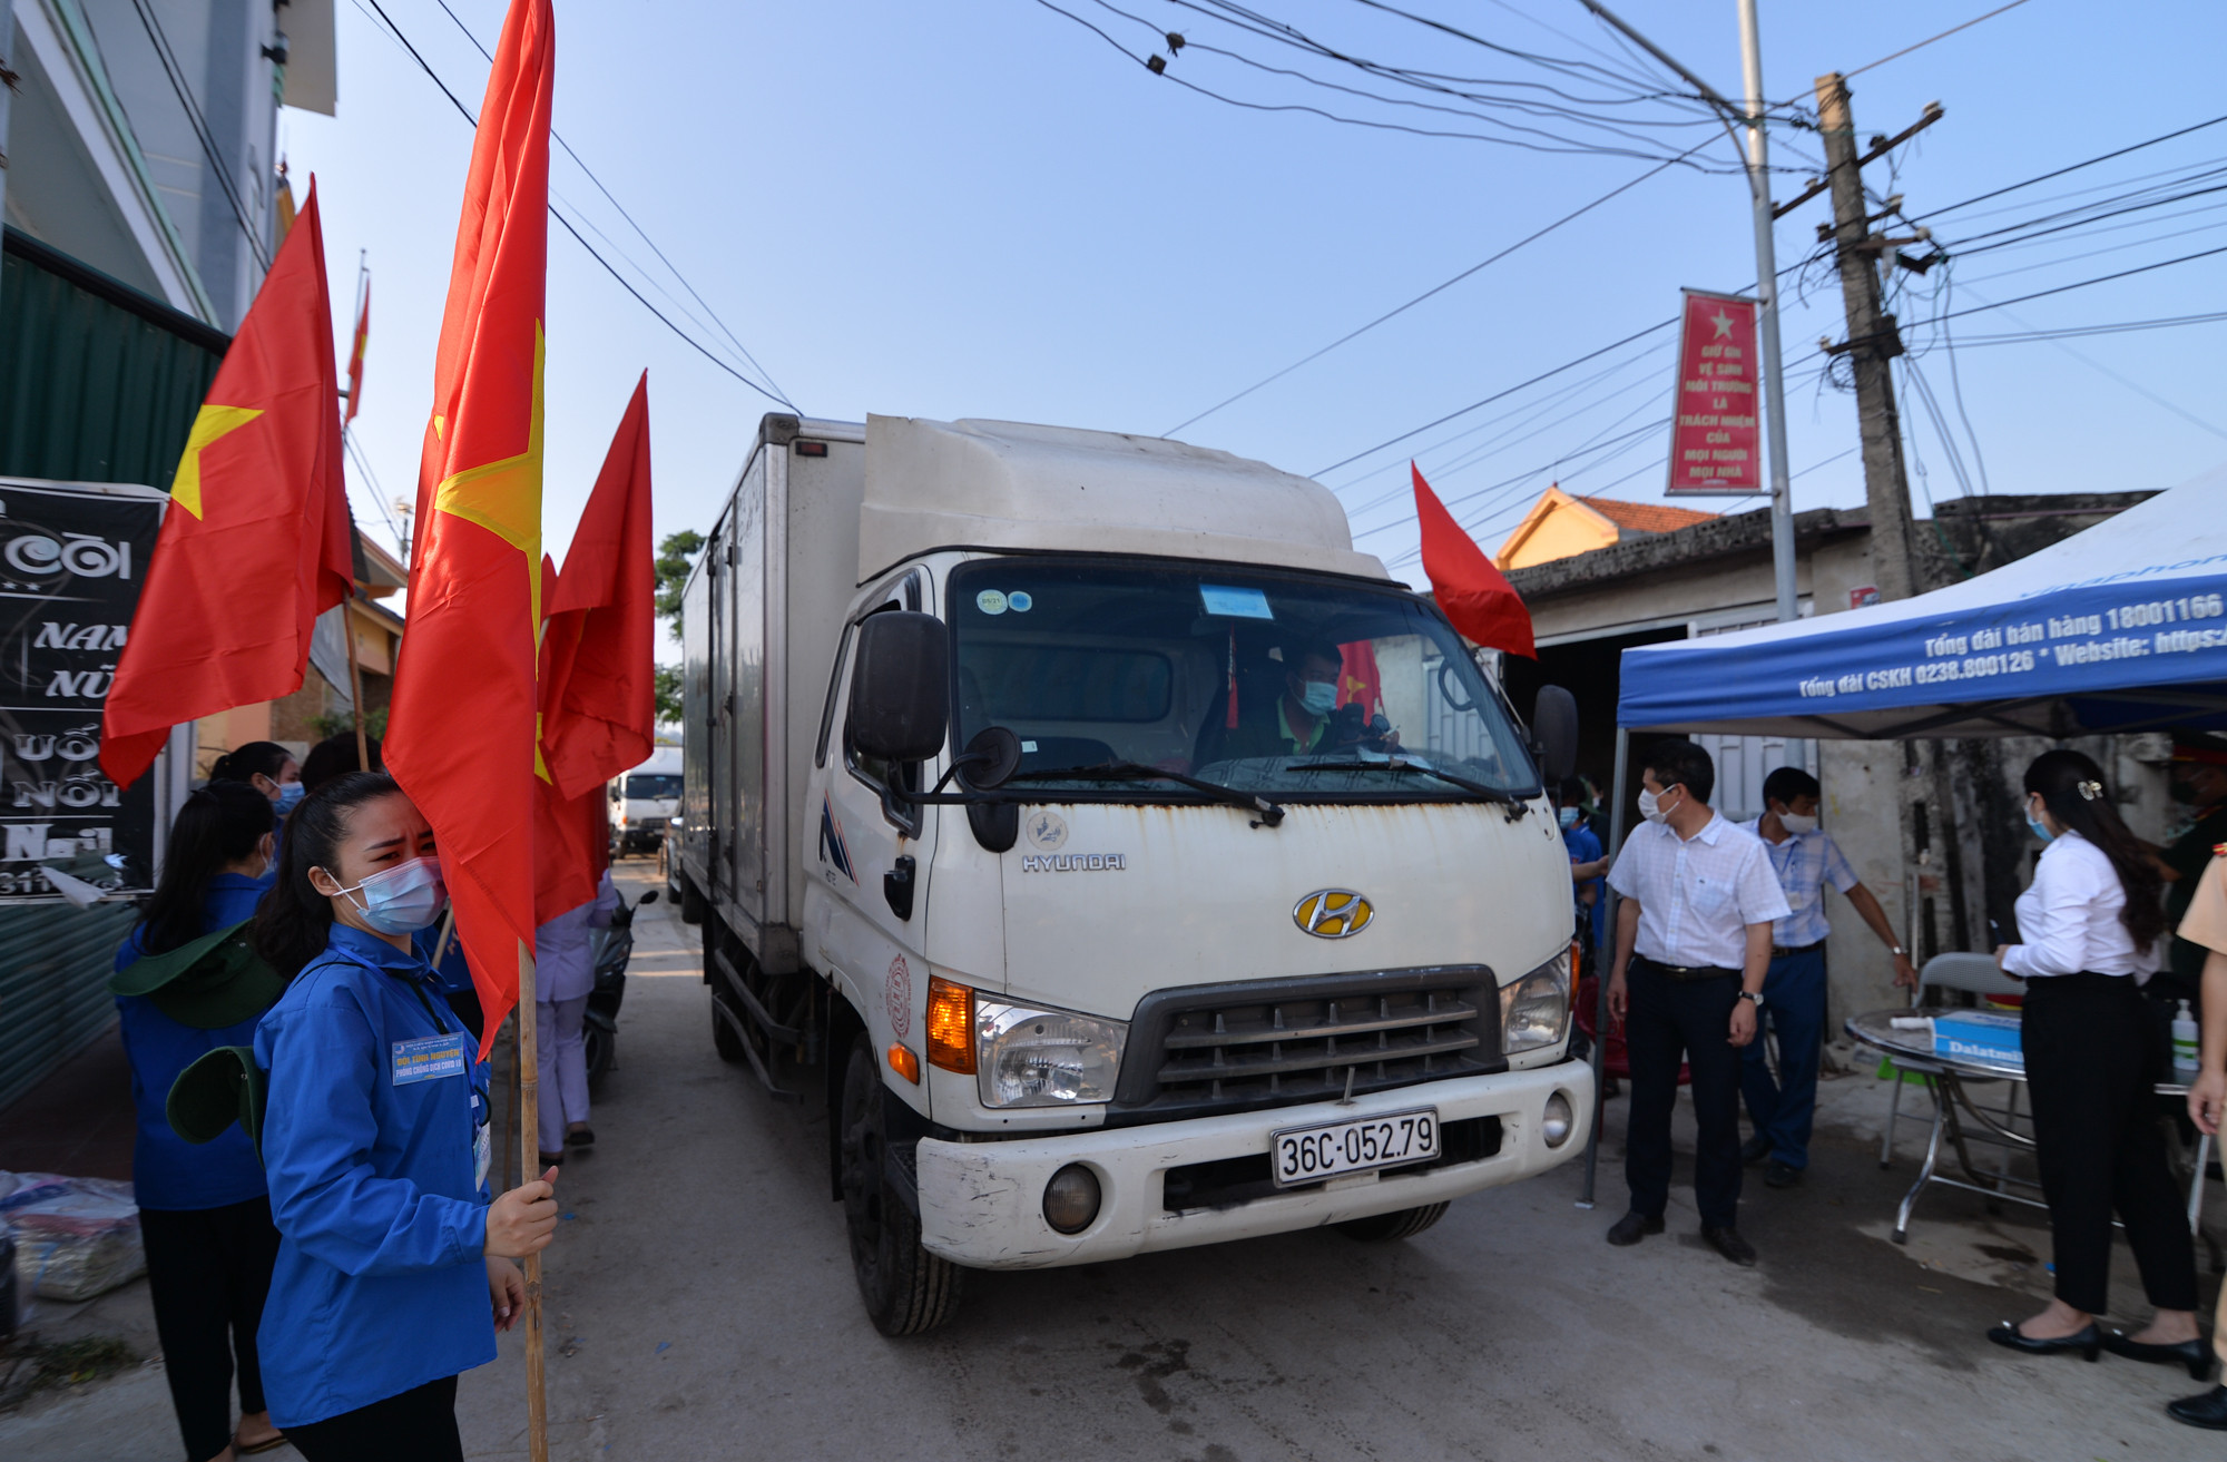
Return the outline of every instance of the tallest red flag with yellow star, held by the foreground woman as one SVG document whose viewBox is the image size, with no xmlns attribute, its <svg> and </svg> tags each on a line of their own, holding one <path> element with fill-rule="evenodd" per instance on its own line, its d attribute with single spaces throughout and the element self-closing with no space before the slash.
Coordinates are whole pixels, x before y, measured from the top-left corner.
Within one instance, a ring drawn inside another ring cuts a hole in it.
<svg viewBox="0 0 2227 1462">
<path fill-rule="evenodd" d="M 387 771 L 441 847 L 488 1043 L 534 943 L 534 660 L 541 626 L 541 321 L 550 0 L 512 0 L 463 185 L 419 461 L 410 628 Z"/>
</svg>

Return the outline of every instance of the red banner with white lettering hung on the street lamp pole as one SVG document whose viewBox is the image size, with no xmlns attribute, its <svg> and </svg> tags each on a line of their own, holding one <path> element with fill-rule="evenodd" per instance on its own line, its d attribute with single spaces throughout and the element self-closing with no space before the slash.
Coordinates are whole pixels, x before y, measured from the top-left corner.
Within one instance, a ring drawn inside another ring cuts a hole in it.
<svg viewBox="0 0 2227 1462">
<path fill-rule="evenodd" d="M 1755 426 L 1755 301 L 1686 290 L 1670 428 L 1670 497 L 1768 493 Z"/>
</svg>

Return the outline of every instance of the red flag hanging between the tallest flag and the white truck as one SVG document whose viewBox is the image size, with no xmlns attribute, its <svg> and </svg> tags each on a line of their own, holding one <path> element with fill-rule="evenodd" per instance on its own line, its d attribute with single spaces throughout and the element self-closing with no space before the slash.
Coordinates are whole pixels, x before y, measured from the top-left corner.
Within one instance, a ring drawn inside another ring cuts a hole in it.
<svg viewBox="0 0 2227 1462">
<path fill-rule="evenodd" d="M 595 898 L 610 851 L 604 782 L 639 767 L 655 744 L 648 372 L 555 577 L 541 631 L 541 756 L 550 771 L 537 889 L 543 923 Z"/>
</svg>

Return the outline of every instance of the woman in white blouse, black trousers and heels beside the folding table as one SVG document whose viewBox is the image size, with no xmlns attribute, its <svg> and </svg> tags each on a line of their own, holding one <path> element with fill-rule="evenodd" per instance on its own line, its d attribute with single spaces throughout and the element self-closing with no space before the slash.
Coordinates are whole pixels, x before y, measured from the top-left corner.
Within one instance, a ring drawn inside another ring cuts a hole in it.
<svg viewBox="0 0 2227 1462">
<path fill-rule="evenodd" d="M 2049 847 L 2018 896 L 2024 943 L 1998 947 L 1995 963 L 2027 981 L 2020 1032 L 2058 1284 L 2047 1310 L 1986 1337 L 2087 1359 L 2111 1351 L 2205 1380 L 2211 1353 L 2196 1337 L 2196 1253 L 2165 1166 L 2151 1090 L 2158 1047 L 2136 978 L 2158 967 L 2167 932 L 2158 874 L 2120 820 L 2102 769 L 2078 751 L 2044 751 L 2027 767 L 2027 825 Z M 2109 1306 L 2113 1208 L 2156 1308 L 2133 1335 L 2096 1326 Z"/>
</svg>

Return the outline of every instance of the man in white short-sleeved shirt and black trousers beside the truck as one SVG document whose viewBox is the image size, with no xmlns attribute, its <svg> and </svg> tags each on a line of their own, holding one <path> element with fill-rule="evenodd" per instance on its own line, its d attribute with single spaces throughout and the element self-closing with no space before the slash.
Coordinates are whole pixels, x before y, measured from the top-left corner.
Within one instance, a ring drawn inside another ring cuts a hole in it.
<svg viewBox="0 0 2227 1462">
<path fill-rule="evenodd" d="M 1637 1244 L 1664 1230 L 1670 1201 L 1670 1108 L 1677 1068 L 1693 1070 L 1693 1192 L 1701 1237 L 1733 1264 L 1755 1264 L 1739 1232 L 1739 1050 L 1755 1039 L 1770 967 L 1770 923 L 1786 894 L 1755 834 L 1708 805 L 1717 769 L 1686 740 L 1648 749 L 1639 813 L 1608 871 L 1617 905 L 1617 956 L 1608 1010 L 1623 1021 L 1632 1108 L 1623 1179 L 1632 1208 L 1608 1241 Z"/>
</svg>

